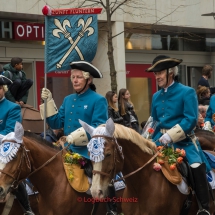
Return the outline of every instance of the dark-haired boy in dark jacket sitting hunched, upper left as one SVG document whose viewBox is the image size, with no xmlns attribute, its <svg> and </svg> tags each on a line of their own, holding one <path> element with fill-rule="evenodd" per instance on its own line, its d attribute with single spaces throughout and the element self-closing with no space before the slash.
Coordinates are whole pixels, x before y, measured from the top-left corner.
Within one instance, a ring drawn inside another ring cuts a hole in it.
<svg viewBox="0 0 215 215">
<path fill-rule="evenodd" d="M 4 72 L 2 74 L 13 82 L 8 85 L 9 90 L 5 94 L 5 97 L 20 106 L 26 104 L 28 100 L 28 91 L 33 81 L 31 79 L 26 79 L 26 74 L 22 70 L 22 58 L 12 58 L 11 63 L 4 65 L 3 69 Z"/>
</svg>

